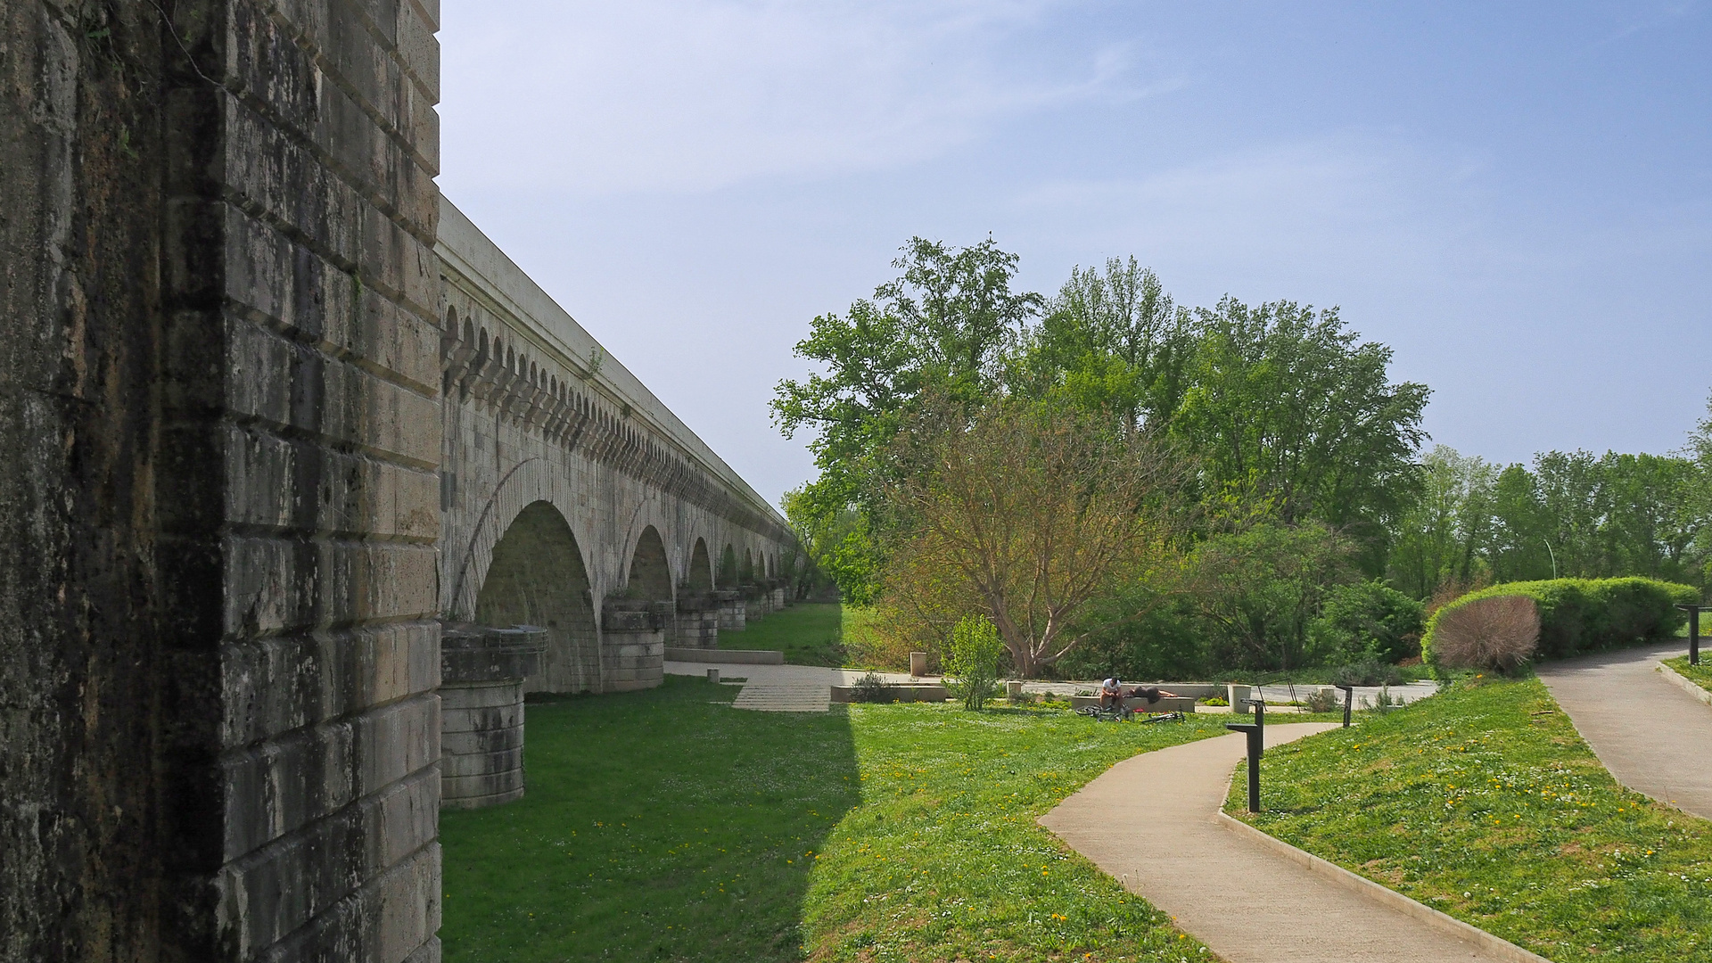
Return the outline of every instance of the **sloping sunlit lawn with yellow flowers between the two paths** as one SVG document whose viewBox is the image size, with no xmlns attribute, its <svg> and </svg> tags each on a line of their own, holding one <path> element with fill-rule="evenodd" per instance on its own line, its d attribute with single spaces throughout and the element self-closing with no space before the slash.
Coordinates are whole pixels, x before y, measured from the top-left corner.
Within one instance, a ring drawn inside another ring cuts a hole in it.
<svg viewBox="0 0 1712 963">
<path fill-rule="evenodd" d="M 1534 679 L 1267 752 L 1226 810 L 1560 963 L 1712 960 L 1712 822 L 1616 783 Z"/>
</svg>

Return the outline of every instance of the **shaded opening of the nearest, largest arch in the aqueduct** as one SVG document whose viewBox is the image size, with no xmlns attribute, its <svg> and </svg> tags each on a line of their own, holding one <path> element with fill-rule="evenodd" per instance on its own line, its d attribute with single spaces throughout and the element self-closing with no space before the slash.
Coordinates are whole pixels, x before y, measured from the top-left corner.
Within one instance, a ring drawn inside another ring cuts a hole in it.
<svg viewBox="0 0 1712 963">
<path fill-rule="evenodd" d="M 582 550 L 565 516 L 551 502 L 531 502 L 493 545 L 476 622 L 543 625 L 546 658 L 531 692 L 582 692 L 601 687 L 599 634 Z"/>
</svg>

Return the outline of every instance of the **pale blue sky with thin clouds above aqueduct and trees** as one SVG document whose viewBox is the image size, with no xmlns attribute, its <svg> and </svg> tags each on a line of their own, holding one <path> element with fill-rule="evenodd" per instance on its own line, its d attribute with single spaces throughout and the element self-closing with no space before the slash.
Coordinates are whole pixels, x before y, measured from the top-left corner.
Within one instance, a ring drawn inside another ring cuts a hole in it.
<svg viewBox="0 0 1712 963">
<path fill-rule="evenodd" d="M 1712 3 L 443 0 L 440 187 L 770 500 L 767 403 L 911 236 L 1339 307 L 1433 444 L 1678 449 Z"/>
</svg>

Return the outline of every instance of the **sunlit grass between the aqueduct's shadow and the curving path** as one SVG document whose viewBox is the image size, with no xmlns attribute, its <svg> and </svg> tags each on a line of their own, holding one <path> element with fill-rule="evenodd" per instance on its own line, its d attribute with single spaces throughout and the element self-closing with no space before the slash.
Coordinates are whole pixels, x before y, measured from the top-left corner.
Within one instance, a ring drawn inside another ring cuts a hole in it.
<svg viewBox="0 0 1712 963">
<path fill-rule="evenodd" d="M 1202 958 L 1198 941 L 1034 819 L 1113 763 L 1222 735 L 1222 718 L 880 704 L 853 706 L 851 721 L 861 805 L 815 864 L 810 960 Z"/>
</svg>

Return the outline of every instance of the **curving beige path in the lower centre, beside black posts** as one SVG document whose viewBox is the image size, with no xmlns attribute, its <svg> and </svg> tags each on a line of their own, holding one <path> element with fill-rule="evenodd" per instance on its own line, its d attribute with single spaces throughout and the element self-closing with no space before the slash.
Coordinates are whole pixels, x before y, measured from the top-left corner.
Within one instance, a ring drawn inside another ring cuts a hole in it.
<svg viewBox="0 0 1712 963">
<path fill-rule="evenodd" d="M 1269 725 L 1267 745 L 1327 728 Z M 1041 824 L 1229 963 L 1500 960 L 1221 828 L 1214 817 L 1243 752 L 1238 733 L 1144 752 Z"/>
</svg>

